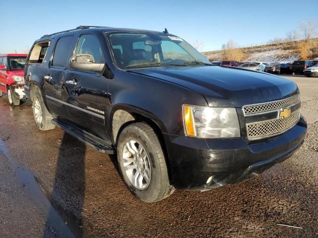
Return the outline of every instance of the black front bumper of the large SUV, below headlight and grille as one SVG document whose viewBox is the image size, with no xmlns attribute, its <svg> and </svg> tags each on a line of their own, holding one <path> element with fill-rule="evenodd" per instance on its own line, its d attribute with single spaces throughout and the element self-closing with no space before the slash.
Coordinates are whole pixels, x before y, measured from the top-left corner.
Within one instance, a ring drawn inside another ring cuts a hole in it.
<svg viewBox="0 0 318 238">
<path fill-rule="evenodd" d="M 304 142 L 306 130 L 301 117 L 285 133 L 258 142 L 164 134 L 171 182 L 177 189 L 209 190 L 251 179 L 290 157 Z"/>
</svg>

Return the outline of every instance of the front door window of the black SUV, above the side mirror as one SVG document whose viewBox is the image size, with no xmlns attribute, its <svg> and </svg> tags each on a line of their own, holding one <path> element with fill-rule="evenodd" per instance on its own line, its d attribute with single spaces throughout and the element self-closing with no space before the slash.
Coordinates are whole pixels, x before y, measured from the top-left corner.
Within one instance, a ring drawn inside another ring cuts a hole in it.
<svg viewBox="0 0 318 238">
<path fill-rule="evenodd" d="M 79 37 L 75 54 L 89 54 L 94 57 L 95 63 L 104 62 L 99 42 L 93 35 L 82 35 Z"/>
</svg>

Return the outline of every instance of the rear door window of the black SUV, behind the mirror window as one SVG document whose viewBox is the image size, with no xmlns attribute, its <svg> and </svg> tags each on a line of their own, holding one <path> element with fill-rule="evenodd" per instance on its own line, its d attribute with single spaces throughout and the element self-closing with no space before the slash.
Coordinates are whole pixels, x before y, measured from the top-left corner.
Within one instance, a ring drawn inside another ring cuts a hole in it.
<svg viewBox="0 0 318 238">
<path fill-rule="evenodd" d="M 56 44 L 52 66 L 66 67 L 72 49 L 73 36 L 62 37 Z"/>
</svg>

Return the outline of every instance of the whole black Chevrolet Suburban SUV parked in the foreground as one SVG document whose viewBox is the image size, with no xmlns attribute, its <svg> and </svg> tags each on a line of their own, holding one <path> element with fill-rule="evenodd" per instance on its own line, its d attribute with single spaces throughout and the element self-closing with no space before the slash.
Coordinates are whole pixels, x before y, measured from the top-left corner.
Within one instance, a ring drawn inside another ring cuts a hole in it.
<svg viewBox="0 0 318 238">
<path fill-rule="evenodd" d="M 39 129 L 59 126 L 116 153 L 127 187 L 145 202 L 251 179 L 291 156 L 307 129 L 294 82 L 214 66 L 166 30 L 45 35 L 24 76 Z"/>
</svg>

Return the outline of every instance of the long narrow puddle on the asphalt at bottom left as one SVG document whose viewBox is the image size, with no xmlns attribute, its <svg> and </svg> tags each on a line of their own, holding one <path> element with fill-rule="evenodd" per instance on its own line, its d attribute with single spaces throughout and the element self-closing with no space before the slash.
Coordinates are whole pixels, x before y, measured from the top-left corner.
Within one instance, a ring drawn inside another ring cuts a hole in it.
<svg viewBox="0 0 318 238">
<path fill-rule="evenodd" d="M 74 220 L 72 215 L 60 209 L 57 204 L 54 204 L 51 199 L 51 194 L 41 187 L 39 180 L 23 166 L 17 166 L 16 162 L 10 157 L 4 141 L 0 140 L 0 153 L 8 160 L 11 168 L 15 172 L 15 176 L 19 183 L 22 184 L 27 196 L 38 205 L 44 208 L 47 216 L 47 225 L 50 229 L 58 232 L 61 237 L 74 238 L 81 237 L 79 225 Z M 43 229 L 46 229 L 43 228 Z"/>
</svg>

